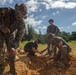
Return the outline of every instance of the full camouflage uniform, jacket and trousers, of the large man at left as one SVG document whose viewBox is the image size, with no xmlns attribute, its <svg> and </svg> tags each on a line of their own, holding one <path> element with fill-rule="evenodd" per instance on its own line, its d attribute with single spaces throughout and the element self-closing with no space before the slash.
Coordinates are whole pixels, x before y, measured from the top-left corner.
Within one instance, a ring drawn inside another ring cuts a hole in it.
<svg viewBox="0 0 76 75">
<path fill-rule="evenodd" d="M 3 65 L 4 62 L 4 43 L 7 46 L 7 50 L 10 51 L 11 48 L 18 48 L 19 43 L 23 37 L 25 31 L 25 23 L 23 19 L 16 19 L 16 11 L 12 8 L 0 8 L 0 65 Z M 1 31 L 2 27 L 7 27 L 10 30 L 10 33 L 3 33 Z M 14 31 L 16 31 L 16 35 L 14 36 Z M 10 55 L 10 70 L 12 70 L 12 64 L 14 63 L 12 57 Z M 0 73 L 1 74 L 1 73 Z M 13 74 L 15 75 L 15 74 Z"/>
</svg>

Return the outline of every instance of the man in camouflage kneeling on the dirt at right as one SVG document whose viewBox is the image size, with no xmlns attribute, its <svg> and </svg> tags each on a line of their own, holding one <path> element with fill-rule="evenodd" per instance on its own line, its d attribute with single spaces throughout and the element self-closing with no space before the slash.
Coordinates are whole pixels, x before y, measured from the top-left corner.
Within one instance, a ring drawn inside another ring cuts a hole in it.
<svg viewBox="0 0 76 75">
<path fill-rule="evenodd" d="M 54 60 L 69 60 L 69 53 L 71 47 L 61 37 L 54 37 L 51 33 L 48 35 L 48 39 L 52 44 L 52 50 L 54 51 Z M 57 50 L 58 48 L 58 50 Z"/>
</svg>

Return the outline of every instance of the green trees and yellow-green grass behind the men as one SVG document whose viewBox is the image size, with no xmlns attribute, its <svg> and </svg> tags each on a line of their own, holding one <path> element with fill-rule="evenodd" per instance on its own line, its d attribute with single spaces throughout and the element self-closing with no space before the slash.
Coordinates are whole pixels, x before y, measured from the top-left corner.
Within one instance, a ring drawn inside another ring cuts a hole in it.
<svg viewBox="0 0 76 75">
<path fill-rule="evenodd" d="M 63 31 L 63 32 L 60 32 L 59 36 L 62 37 L 64 40 L 66 40 L 72 48 L 75 48 L 75 45 L 76 45 L 76 31 L 73 31 L 72 33 Z M 42 34 L 41 30 L 39 30 L 39 34 L 38 34 L 34 30 L 32 25 L 27 25 L 24 37 L 22 39 L 22 43 L 20 44 L 20 48 L 23 49 L 24 45 L 28 41 L 36 40 L 37 38 L 41 38 L 43 40 L 43 44 L 39 45 L 39 49 L 43 50 L 44 48 L 46 48 L 47 47 L 47 44 L 46 44 L 47 36 L 46 36 L 46 34 Z"/>
</svg>

